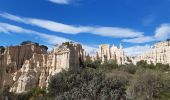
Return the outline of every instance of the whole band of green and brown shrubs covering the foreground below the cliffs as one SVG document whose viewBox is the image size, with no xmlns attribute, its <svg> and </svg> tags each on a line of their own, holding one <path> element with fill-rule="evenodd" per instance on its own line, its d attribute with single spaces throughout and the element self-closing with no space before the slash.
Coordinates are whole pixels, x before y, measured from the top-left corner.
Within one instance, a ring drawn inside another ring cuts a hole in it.
<svg viewBox="0 0 170 100">
<path fill-rule="evenodd" d="M 15 95 L 16 100 L 170 99 L 169 65 L 140 61 L 119 66 L 114 60 L 103 64 L 101 60 L 89 60 L 83 66 L 63 70 L 51 77 L 47 90 L 35 88 Z"/>
</svg>

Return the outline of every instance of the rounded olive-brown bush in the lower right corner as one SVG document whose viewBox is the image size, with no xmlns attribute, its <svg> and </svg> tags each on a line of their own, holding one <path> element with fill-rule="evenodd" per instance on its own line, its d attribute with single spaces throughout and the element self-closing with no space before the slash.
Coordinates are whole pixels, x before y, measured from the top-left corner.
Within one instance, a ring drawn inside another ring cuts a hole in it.
<svg viewBox="0 0 170 100">
<path fill-rule="evenodd" d="M 167 89 L 163 73 L 154 70 L 138 70 L 127 90 L 132 100 L 152 100 L 160 98 L 160 93 Z"/>
</svg>

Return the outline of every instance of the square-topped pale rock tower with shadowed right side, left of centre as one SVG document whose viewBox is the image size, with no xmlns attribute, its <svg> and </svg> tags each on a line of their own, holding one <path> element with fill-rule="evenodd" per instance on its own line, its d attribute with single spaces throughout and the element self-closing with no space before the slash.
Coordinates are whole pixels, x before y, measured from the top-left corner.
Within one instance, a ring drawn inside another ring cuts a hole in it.
<svg viewBox="0 0 170 100">
<path fill-rule="evenodd" d="M 54 75 L 62 69 L 67 70 L 70 67 L 79 67 L 80 60 L 83 61 L 83 49 L 80 44 L 61 45 L 54 48 L 50 55 L 52 61 L 48 61 L 50 65 L 49 74 Z"/>
</svg>

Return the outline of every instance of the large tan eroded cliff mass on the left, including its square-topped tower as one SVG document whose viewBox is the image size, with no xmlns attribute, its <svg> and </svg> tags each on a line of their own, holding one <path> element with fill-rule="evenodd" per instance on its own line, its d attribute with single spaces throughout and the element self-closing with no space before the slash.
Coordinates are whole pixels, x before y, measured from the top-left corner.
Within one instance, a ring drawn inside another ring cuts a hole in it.
<svg viewBox="0 0 170 100">
<path fill-rule="evenodd" d="M 50 53 L 35 43 L 7 47 L 3 54 L 6 58 L 1 58 L 6 68 L 1 80 L 5 80 L 0 82 L 15 93 L 26 92 L 36 86 L 46 87 L 52 75 L 62 69 L 79 67 L 84 60 L 83 51 L 80 44 L 69 42 L 55 47 Z"/>
</svg>

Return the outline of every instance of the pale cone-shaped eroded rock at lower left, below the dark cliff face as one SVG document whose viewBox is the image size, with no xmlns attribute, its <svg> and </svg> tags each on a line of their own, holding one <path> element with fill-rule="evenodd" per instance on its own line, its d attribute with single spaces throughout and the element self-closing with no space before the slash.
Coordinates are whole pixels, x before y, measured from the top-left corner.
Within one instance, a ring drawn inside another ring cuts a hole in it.
<svg viewBox="0 0 170 100">
<path fill-rule="evenodd" d="M 34 68 L 33 63 L 26 60 L 21 68 L 21 75 L 18 80 L 11 87 L 11 92 L 22 93 L 36 86 L 38 82 L 37 69 Z"/>
</svg>

